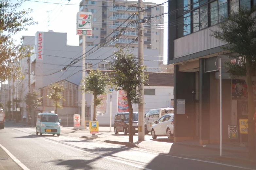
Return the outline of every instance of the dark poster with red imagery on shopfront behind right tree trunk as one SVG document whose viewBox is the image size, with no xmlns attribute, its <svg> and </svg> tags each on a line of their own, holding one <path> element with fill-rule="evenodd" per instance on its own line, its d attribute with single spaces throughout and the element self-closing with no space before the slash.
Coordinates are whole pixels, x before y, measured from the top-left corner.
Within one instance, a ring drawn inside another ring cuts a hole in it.
<svg viewBox="0 0 256 170">
<path fill-rule="evenodd" d="M 252 86 L 254 98 L 256 99 L 256 77 L 252 77 Z M 232 99 L 233 100 L 247 100 L 247 78 L 238 77 L 232 79 Z"/>
</svg>

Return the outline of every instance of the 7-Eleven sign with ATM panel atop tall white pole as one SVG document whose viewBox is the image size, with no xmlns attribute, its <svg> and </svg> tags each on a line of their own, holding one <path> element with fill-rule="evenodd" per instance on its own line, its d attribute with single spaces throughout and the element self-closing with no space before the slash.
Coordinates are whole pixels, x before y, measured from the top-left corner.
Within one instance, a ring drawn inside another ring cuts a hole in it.
<svg viewBox="0 0 256 170">
<path fill-rule="evenodd" d="M 77 12 L 77 35 L 93 35 L 92 12 Z"/>
</svg>

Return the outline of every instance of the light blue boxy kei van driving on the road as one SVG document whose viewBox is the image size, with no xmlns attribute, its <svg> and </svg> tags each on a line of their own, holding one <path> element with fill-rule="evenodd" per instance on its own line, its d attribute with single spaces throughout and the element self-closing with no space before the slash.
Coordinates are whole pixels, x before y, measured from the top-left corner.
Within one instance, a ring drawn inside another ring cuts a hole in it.
<svg viewBox="0 0 256 170">
<path fill-rule="evenodd" d="M 60 136 L 60 121 L 54 113 L 38 113 L 36 122 L 36 135 L 57 134 Z"/>
</svg>

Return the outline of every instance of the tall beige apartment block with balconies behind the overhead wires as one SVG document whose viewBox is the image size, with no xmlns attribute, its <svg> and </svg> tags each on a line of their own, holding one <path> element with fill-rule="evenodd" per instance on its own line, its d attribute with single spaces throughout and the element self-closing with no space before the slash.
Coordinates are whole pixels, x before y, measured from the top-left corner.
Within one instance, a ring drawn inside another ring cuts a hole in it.
<svg viewBox="0 0 256 170">
<path fill-rule="evenodd" d="M 138 1 L 127 0 L 82 0 L 80 2 L 80 11 L 92 12 L 93 14 L 93 35 L 86 36 L 86 46 L 96 46 L 98 43 L 104 42 L 104 38 L 110 35 L 131 14 L 138 11 L 136 7 L 128 9 L 128 7 L 137 3 Z M 143 7 L 147 9 L 143 13 L 145 19 L 163 13 L 163 6 L 154 7 L 156 5 L 156 3 L 143 3 Z M 153 8 L 148 9 L 150 7 Z M 163 30 L 161 30 L 160 25 L 158 25 L 162 20 L 158 20 L 159 18 L 160 17 L 155 17 L 151 20 L 150 24 L 144 24 L 144 48 L 159 49 L 159 56 L 163 56 Z M 138 16 L 135 15 L 132 20 L 138 20 Z M 126 26 L 128 21 L 126 24 L 123 24 L 120 29 Z M 115 31 L 111 36 L 115 36 L 120 29 Z M 133 23 L 129 25 L 123 35 L 124 36 L 110 46 L 113 47 L 115 43 L 124 46 L 132 42 L 138 35 L 137 24 Z M 82 45 L 82 36 L 79 36 L 79 45 Z M 133 43 L 130 47 L 138 48 L 138 42 Z"/>
</svg>

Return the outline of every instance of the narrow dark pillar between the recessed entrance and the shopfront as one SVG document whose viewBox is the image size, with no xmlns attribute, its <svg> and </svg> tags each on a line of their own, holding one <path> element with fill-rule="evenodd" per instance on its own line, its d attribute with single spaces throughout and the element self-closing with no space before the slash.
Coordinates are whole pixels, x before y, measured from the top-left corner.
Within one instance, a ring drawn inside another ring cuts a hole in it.
<svg viewBox="0 0 256 170">
<path fill-rule="evenodd" d="M 199 144 L 210 137 L 210 73 L 205 73 L 205 59 L 199 59 Z"/>
</svg>

